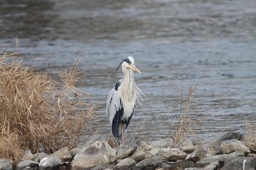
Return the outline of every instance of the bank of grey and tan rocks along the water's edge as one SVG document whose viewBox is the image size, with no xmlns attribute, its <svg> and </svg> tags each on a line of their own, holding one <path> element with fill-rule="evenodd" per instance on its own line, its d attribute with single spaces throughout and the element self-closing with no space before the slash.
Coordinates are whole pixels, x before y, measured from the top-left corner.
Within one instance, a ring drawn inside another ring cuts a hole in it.
<svg viewBox="0 0 256 170">
<path fill-rule="evenodd" d="M 94 135 L 82 148 L 64 147 L 51 155 L 33 155 L 27 150 L 15 166 L 0 159 L 0 169 L 256 169 L 255 139 L 256 131 L 230 131 L 202 146 L 187 138 L 178 143 L 166 138 L 151 144 L 136 140 L 124 147 L 110 147 L 102 136 Z"/>
</svg>

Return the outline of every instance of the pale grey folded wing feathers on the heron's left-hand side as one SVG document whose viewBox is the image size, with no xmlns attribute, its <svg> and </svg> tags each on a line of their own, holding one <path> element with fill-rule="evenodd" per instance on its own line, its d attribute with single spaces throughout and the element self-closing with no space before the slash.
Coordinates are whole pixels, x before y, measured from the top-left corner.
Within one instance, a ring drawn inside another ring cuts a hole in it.
<svg viewBox="0 0 256 170">
<path fill-rule="evenodd" d="M 121 83 L 122 80 L 119 80 L 118 83 Z M 121 99 L 119 97 L 119 90 L 115 90 L 116 86 L 110 90 L 107 99 L 107 107 L 106 107 L 106 115 L 110 120 L 110 124 L 112 125 L 113 118 L 116 115 L 116 112 L 121 109 Z"/>
</svg>

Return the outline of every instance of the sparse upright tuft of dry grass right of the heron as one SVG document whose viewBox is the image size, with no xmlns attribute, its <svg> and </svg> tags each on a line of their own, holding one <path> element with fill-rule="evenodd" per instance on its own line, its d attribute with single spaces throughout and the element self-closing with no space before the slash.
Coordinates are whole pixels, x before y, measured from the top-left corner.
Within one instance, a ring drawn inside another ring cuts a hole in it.
<svg viewBox="0 0 256 170">
<path fill-rule="evenodd" d="M 175 125 L 175 134 L 173 138 L 175 142 L 180 142 L 185 137 L 192 134 L 192 136 L 196 136 L 196 131 L 193 128 L 194 121 L 190 115 L 192 100 L 195 96 L 195 89 L 196 86 L 191 86 L 187 92 L 187 97 L 184 98 L 184 90 L 183 88 L 180 89 L 176 85 L 173 85 L 176 88 L 176 91 L 180 95 L 180 101 L 178 102 L 177 106 L 179 109 L 178 115 L 178 123 Z"/>
</svg>

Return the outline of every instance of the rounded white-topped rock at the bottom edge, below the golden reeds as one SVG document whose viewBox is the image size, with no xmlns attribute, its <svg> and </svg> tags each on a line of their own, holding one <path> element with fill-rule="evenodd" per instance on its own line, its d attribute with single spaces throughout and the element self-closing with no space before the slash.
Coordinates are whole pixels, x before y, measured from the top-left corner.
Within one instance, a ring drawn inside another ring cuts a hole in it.
<svg viewBox="0 0 256 170">
<path fill-rule="evenodd" d="M 58 169 L 61 166 L 61 160 L 56 156 L 49 156 L 46 158 L 42 158 L 39 163 L 39 169 Z"/>
</svg>

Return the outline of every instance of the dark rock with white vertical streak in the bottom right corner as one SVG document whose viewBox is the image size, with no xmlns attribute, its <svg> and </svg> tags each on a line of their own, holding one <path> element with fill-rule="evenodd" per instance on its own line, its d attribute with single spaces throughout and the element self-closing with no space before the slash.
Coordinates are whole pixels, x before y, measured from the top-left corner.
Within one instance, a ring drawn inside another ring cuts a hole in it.
<svg viewBox="0 0 256 170">
<path fill-rule="evenodd" d="M 254 170 L 256 169 L 256 158 L 246 158 L 246 157 L 236 157 L 230 158 L 222 170 L 233 170 L 233 169 L 246 169 Z"/>
</svg>

